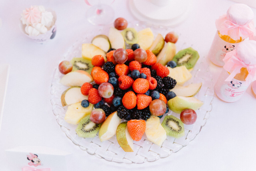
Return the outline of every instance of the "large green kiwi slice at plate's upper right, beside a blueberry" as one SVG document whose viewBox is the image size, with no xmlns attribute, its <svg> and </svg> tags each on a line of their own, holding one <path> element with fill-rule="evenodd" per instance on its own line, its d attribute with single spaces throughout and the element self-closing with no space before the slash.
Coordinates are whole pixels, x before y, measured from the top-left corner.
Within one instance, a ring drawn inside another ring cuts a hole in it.
<svg viewBox="0 0 256 171">
<path fill-rule="evenodd" d="M 190 69 L 196 65 L 198 58 L 198 52 L 189 47 L 187 49 L 180 50 L 172 60 L 177 63 L 178 67 L 184 65 L 187 69 Z"/>
</svg>

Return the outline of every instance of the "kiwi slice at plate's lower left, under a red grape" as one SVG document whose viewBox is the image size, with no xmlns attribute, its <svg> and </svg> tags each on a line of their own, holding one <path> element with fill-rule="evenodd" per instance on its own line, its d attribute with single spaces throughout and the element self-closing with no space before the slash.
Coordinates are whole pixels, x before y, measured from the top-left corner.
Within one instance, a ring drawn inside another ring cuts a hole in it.
<svg viewBox="0 0 256 171">
<path fill-rule="evenodd" d="M 84 117 L 81 119 L 79 122 L 76 132 L 79 137 L 84 137 L 84 138 L 93 138 L 96 136 L 97 132 L 99 131 L 101 126 L 100 124 L 93 123 L 90 120 L 90 115 Z"/>
</svg>

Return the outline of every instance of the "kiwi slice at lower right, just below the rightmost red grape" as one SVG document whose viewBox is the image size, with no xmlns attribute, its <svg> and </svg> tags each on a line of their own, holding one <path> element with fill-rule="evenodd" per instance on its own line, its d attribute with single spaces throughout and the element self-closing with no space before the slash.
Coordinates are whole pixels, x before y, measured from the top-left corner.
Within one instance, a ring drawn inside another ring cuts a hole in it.
<svg viewBox="0 0 256 171">
<path fill-rule="evenodd" d="M 181 122 L 180 119 L 173 115 L 167 115 L 165 116 L 162 126 L 164 127 L 166 131 L 166 135 L 179 138 L 184 136 L 184 124 Z"/>
</svg>

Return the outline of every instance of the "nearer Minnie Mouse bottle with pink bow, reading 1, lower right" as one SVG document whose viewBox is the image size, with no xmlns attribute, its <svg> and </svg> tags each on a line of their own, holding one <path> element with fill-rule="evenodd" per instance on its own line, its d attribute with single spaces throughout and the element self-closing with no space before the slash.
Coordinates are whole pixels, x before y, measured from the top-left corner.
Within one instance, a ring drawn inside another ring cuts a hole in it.
<svg viewBox="0 0 256 171">
<path fill-rule="evenodd" d="M 223 61 L 225 65 L 214 90 L 221 100 L 235 102 L 256 80 L 256 41 L 241 42 L 225 55 Z"/>
</svg>

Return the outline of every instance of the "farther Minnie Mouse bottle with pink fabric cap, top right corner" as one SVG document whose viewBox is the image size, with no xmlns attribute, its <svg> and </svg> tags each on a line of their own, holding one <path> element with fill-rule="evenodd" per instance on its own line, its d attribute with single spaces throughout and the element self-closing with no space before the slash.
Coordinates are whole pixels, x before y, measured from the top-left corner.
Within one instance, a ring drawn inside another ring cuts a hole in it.
<svg viewBox="0 0 256 171">
<path fill-rule="evenodd" d="M 253 18 L 254 14 L 249 6 L 233 4 L 227 14 L 216 20 L 217 32 L 208 54 L 212 63 L 224 66 L 223 58 L 227 52 L 236 49 L 244 39 L 253 39 L 256 35 Z"/>
</svg>

